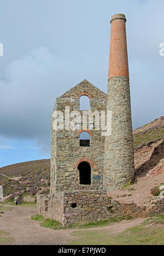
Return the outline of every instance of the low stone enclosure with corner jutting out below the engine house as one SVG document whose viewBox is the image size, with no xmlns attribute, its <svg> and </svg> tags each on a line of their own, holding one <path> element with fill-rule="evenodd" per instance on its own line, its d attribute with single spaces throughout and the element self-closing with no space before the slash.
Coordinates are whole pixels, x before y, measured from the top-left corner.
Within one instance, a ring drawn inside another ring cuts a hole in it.
<svg viewBox="0 0 164 256">
<path fill-rule="evenodd" d="M 37 196 L 37 212 L 45 219 L 55 219 L 63 225 L 109 218 L 111 201 L 106 192 L 62 191 Z"/>
</svg>

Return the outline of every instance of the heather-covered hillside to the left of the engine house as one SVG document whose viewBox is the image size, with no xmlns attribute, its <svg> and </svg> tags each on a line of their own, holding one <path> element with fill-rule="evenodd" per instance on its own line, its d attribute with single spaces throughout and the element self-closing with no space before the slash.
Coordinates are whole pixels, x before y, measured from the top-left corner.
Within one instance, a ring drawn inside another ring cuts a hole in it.
<svg viewBox="0 0 164 256">
<path fill-rule="evenodd" d="M 10 178 L 22 177 L 19 180 Z M 49 193 L 50 160 L 37 160 L 11 164 L 0 168 L 0 185 L 3 186 L 4 196 L 11 194 L 9 199 L 21 195 L 36 195 L 38 192 Z"/>
</svg>

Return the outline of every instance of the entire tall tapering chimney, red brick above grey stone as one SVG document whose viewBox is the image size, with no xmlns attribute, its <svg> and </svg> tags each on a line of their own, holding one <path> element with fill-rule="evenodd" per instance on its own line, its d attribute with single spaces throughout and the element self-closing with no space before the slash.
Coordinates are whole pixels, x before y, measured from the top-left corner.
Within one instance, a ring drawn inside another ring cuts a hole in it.
<svg viewBox="0 0 164 256">
<path fill-rule="evenodd" d="M 105 138 L 103 174 L 103 186 L 107 191 L 119 189 L 134 178 L 125 22 L 124 14 L 115 14 L 110 20 L 107 110 L 112 111 L 112 134 Z"/>
</svg>

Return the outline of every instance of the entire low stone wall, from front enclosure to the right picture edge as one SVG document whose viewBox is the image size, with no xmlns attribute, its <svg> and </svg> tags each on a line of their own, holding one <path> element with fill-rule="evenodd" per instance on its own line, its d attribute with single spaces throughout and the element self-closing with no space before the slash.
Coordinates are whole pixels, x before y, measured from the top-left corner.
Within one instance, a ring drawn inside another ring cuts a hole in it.
<svg viewBox="0 0 164 256">
<path fill-rule="evenodd" d="M 105 191 L 74 190 L 56 194 L 38 195 L 37 212 L 45 219 L 55 219 L 64 226 L 69 223 L 107 219 L 109 217 L 131 216 L 147 218 L 164 213 L 164 198 L 158 198 L 147 206 L 136 203 L 113 201 Z"/>
</svg>

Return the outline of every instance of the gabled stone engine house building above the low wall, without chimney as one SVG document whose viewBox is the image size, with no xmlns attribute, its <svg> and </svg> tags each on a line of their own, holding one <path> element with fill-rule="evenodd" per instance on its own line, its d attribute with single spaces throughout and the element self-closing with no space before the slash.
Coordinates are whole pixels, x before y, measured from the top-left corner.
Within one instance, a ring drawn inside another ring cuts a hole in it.
<svg viewBox="0 0 164 256">
<path fill-rule="evenodd" d="M 70 107 L 70 112 L 79 110 L 79 98 L 83 94 L 90 97 L 91 111 L 106 110 L 107 95 L 84 80 L 56 99 L 54 111 L 60 110 L 65 113 L 65 106 Z M 81 117 L 82 112 L 80 111 Z M 101 130 L 95 130 L 94 127 L 93 130 L 90 129 L 92 133 L 90 147 L 83 147 L 80 146 L 78 134 L 80 130 L 83 130 L 83 127 L 77 130 L 63 129 L 56 131 L 52 127 L 53 122 L 54 117 L 52 114 L 50 193 L 62 190 L 102 189 L 104 137 L 101 135 Z M 91 166 L 91 185 L 79 185 L 79 173 L 76 163 L 83 158 L 94 163 Z"/>
</svg>

